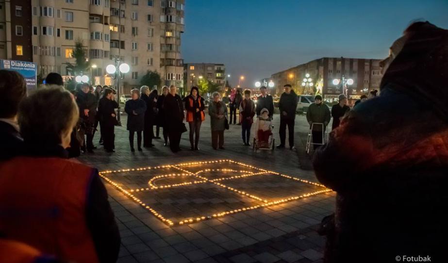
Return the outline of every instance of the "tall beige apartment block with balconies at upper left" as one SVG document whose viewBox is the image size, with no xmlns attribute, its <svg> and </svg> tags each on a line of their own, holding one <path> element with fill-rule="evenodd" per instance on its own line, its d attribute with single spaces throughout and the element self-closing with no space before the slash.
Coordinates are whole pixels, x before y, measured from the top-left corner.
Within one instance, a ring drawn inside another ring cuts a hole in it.
<svg viewBox="0 0 448 263">
<path fill-rule="evenodd" d="M 80 41 L 92 65 L 83 74 L 90 76 L 92 84 L 114 86 L 105 68 L 118 59 L 131 67 L 121 81 L 121 92 L 139 87 L 141 77 L 149 70 L 161 75 L 162 85 L 183 87 L 184 0 L 5 0 L 0 5 L 10 6 L 9 21 L 18 25 L 28 19 L 20 37 L 10 33 L 9 40 L 8 33 L 3 34 L 0 28 L 0 45 L 11 42 L 6 52 L 0 49 L 0 57 L 31 58 L 41 76 L 58 72 L 65 79 L 72 77 L 66 66 L 75 63 L 73 50 Z M 17 8 L 22 16 L 12 17 L 20 13 Z M 8 15 L 4 15 L 8 10 L 0 11 L 1 25 L 3 20 L 8 21 Z M 10 24 L 13 30 L 15 25 Z M 7 22 L 4 27 L 8 28 Z M 8 55 L 17 54 L 15 45 L 23 46 L 22 55 Z"/>
</svg>

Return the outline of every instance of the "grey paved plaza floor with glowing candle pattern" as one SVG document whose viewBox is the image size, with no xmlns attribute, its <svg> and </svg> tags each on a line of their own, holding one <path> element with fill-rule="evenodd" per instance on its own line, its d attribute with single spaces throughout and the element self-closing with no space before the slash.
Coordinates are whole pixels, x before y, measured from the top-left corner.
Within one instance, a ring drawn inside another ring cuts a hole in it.
<svg viewBox="0 0 448 263">
<path fill-rule="evenodd" d="M 253 151 L 241 126 L 225 131 L 225 150 L 211 147 L 209 118 L 199 151 L 155 147 L 131 152 L 116 127 L 116 152 L 102 147 L 79 158 L 101 172 L 121 234 L 118 262 L 322 262 L 316 232 L 334 211 L 335 193 L 320 185 L 305 152 L 308 126 L 296 119 L 296 151 Z M 279 143 L 280 116 L 274 116 Z M 98 144 L 98 137 L 95 137 Z"/>
</svg>

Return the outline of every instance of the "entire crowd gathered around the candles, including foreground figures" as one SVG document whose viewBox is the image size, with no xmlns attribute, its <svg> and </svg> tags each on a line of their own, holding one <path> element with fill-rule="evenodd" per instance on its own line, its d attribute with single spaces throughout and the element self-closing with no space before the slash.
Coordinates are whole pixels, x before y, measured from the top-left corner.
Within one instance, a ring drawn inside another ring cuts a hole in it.
<svg viewBox="0 0 448 263">
<path fill-rule="evenodd" d="M 317 179 L 337 192 L 335 213 L 322 221 L 327 236 L 325 262 L 392 262 L 400 255 L 442 260 L 447 228 L 444 203 L 448 171 L 448 31 L 429 22 L 409 26 L 382 62 L 380 90 L 347 106 L 341 94 L 330 108 L 322 97 L 307 110 L 313 134 Z M 424 78 L 422 76 L 425 76 Z M 113 152 L 115 91 L 79 84 L 74 93 L 51 73 L 46 87 L 27 96 L 15 71 L 0 70 L 0 257 L 4 262 L 116 262 L 120 235 L 98 170 L 69 157 L 93 152 L 98 125 L 105 150 Z M 272 134 L 272 97 L 261 87 L 255 103 L 238 92 L 228 109 L 220 94 L 208 107 L 212 147 L 224 149 L 224 131 L 239 123 L 244 145 L 250 130 L 265 140 Z M 199 150 L 204 100 L 197 87 L 185 99 L 177 88 L 162 94 L 147 86 L 132 90 L 126 102 L 129 142 L 153 147 L 153 127 L 163 128 L 165 145 L 180 150 L 190 128 Z M 294 149 L 297 95 L 284 85 L 280 98 L 280 138 Z M 184 115 L 186 110 L 186 117 Z M 333 117 L 332 132 L 323 132 Z M 165 121 L 160 121 L 160 120 Z M 168 121 L 169 120 L 169 121 Z M 321 146 L 323 145 L 323 146 Z"/>
</svg>

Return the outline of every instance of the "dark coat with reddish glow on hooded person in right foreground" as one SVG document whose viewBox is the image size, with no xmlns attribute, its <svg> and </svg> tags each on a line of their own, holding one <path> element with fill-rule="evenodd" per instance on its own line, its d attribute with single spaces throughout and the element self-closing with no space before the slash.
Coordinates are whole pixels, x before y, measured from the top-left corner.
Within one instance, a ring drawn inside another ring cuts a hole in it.
<svg viewBox="0 0 448 263">
<path fill-rule="evenodd" d="M 316 177 L 337 192 L 328 262 L 415 253 L 439 262 L 448 234 L 448 116 L 423 102 L 390 84 L 349 111 L 316 150 Z"/>
</svg>

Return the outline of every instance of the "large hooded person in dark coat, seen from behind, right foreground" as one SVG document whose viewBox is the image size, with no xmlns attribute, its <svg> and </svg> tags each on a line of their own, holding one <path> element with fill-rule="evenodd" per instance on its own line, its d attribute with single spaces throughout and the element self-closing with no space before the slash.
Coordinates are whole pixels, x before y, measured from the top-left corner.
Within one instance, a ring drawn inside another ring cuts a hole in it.
<svg viewBox="0 0 448 263">
<path fill-rule="evenodd" d="M 447 42 L 447 30 L 411 24 L 391 47 L 381 96 L 315 152 L 316 178 L 337 193 L 325 262 L 446 262 Z"/>
</svg>

